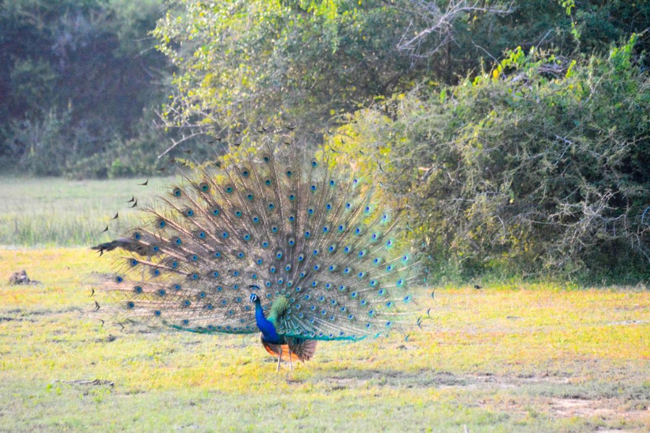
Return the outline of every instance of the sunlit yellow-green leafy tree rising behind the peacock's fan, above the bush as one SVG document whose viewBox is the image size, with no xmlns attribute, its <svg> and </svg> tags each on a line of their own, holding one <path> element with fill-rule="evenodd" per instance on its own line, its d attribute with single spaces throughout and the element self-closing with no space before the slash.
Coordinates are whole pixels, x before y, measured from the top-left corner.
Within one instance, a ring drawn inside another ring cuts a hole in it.
<svg viewBox="0 0 650 433">
<path fill-rule="evenodd" d="M 170 127 L 237 140 L 274 122 L 324 131 L 415 83 L 456 84 L 517 45 L 606 52 L 650 22 L 650 3 L 628 3 L 177 0 L 154 33 L 179 70 L 166 114 Z"/>
</svg>

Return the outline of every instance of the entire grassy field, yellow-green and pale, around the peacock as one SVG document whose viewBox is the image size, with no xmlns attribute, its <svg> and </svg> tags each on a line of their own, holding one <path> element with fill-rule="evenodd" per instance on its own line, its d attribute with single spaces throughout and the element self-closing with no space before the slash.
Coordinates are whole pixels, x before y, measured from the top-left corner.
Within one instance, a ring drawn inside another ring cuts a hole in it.
<svg viewBox="0 0 650 433">
<path fill-rule="evenodd" d="M 87 245 L 77 227 L 98 241 L 95 227 L 125 206 L 135 183 L 8 186 L 21 196 L 5 200 L 26 216 L 5 207 L 0 217 L 1 242 L 14 245 L 0 249 L 0 431 L 650 425 L 650 291 L 641 286 L 437 287 L 435 298 L 424 294 L 422 330 L 414 327 L 408 339 L 319 343 L 312 361 L 280 373 L 257 335 L 101 327 L 90 293 L 110 259 L 85 247 L 20 245 Z M 104 203 L 93 205 L 96 197 Z M 91 215 L 101 222 L 86 220 Z M 40 224 L 53 230 L 12 242 L 8 224 L 17 233 L 37 233 Z M 21 269 L 42 283 L 8 285 Z"/>
</svg>

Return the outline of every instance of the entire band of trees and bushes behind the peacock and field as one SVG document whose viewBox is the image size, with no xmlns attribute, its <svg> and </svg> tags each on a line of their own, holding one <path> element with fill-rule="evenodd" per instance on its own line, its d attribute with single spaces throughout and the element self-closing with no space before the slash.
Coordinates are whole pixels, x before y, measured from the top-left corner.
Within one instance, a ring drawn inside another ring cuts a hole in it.
<svg viewBox="0 0 650 433">
<path fill-rule="evenodd" d="M 166 174 L 291 125 L 409 200 L 439 276 L 639 280 L 649 28 L 647 1 L 4 0 L 0 168 Z"/>
</svg>

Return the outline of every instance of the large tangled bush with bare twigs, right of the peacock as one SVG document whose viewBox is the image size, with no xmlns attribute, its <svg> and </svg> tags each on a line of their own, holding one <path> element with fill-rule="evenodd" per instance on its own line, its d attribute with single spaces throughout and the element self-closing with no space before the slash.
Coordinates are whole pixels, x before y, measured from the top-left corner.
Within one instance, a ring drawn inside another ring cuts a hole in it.
<svg viewBox="0 0 650 433">
<path fill-rule="evenodd" d="M 397 96 L 392 118 L 357 113 L 346 150 L 383 160 L 417 239 L 463 272 L 647 269 L 650 77 L 634 40 L 577 62 L 516 49 Z"/>
</svg>

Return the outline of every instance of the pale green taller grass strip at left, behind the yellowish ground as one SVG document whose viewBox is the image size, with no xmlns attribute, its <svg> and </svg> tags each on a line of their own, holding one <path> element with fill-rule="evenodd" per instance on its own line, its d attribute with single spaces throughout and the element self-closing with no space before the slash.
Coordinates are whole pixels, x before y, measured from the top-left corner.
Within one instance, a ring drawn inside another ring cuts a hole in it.
<svg viewBox="0 0 650 433">
<path fill-rule="evenodd" d="M 0 245 L 52 246 L 90 245 L 120 233 L 132 213 L 127 200 L 135 195 L 138 205 L 146 202 L 168 179 L 72 181 L 59 178 L 21 179 L 0 177 Z M 110 231 L 100 233 L 116 211 Z"/>
</svg>

